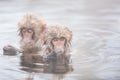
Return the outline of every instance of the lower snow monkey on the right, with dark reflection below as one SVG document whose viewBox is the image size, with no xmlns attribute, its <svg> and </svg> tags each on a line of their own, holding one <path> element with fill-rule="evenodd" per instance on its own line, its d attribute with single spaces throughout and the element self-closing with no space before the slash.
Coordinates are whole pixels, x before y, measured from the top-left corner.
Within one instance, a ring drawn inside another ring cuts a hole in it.
<svg viewBox="0 0 120 80">
<path fill-rule="evenodd" d="M 70 64 L 72 32 L 63 25 L 51 25 L 46 29 L 46 66 L 45 72 L 66 73 L 72 69 Z M 70 68 L 71 67 L 71 68 Z"/>
</svg>

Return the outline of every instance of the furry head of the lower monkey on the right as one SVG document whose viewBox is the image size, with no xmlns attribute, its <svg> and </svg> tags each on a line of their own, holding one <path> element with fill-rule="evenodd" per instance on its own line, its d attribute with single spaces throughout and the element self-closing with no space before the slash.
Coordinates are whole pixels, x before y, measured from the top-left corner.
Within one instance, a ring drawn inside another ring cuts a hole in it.
<svg viewBox="0 0 120 80">
<path fill-rule="evenodd" d="M 45 32 L 46 45 L 50 51 L 56 50 L 67 52 L 70 50 L 72 32 L 63 25 L 51 25 Z M 56 47 L 55 47 L 56 46 Z"/>
</svg>

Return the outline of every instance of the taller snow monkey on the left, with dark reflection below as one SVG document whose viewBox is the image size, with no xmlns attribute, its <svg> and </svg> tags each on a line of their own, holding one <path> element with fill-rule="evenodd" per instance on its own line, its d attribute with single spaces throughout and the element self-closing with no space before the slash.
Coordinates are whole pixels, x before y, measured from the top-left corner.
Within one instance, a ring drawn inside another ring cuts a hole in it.
<svg viewBox="0 0 120 80">
<path fill-rule="evenodd" d="M 20 49 L 22 51 L 21 65 L 35 67 L 34 63 L 41 63 L 41 49 L 44 44 L 42 37 L 46 23 L 35 14 L 26 14 L 18 23 L 20 40 Z"/>
</svg>

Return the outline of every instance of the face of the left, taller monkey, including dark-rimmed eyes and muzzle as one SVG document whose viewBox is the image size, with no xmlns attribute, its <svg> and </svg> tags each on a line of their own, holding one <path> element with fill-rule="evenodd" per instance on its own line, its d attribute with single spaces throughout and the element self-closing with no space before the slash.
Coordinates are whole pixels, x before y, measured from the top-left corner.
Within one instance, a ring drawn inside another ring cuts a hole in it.
<svg viewBox="0 0 120 80">
<path fill-rule="evenodd" d="M 35 32 L 32 28 L 23 28 L 21 29 L 22 40 L 31 41 L 34 40 Z"/>
</svg>

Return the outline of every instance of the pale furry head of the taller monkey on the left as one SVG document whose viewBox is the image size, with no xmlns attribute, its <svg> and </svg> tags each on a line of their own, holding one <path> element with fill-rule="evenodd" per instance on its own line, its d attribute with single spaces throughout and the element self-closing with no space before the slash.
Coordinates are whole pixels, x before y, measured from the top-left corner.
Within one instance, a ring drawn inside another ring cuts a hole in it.
<svg viewBox="0 0 120 80">
<path fill-rule="evenodd" d="M 23 41 L 37 41 L 40 34 L 45 30 L 46 23 L 35 14 L 26 14 L 18 23 L 19 35 Z"/>
</svg>

